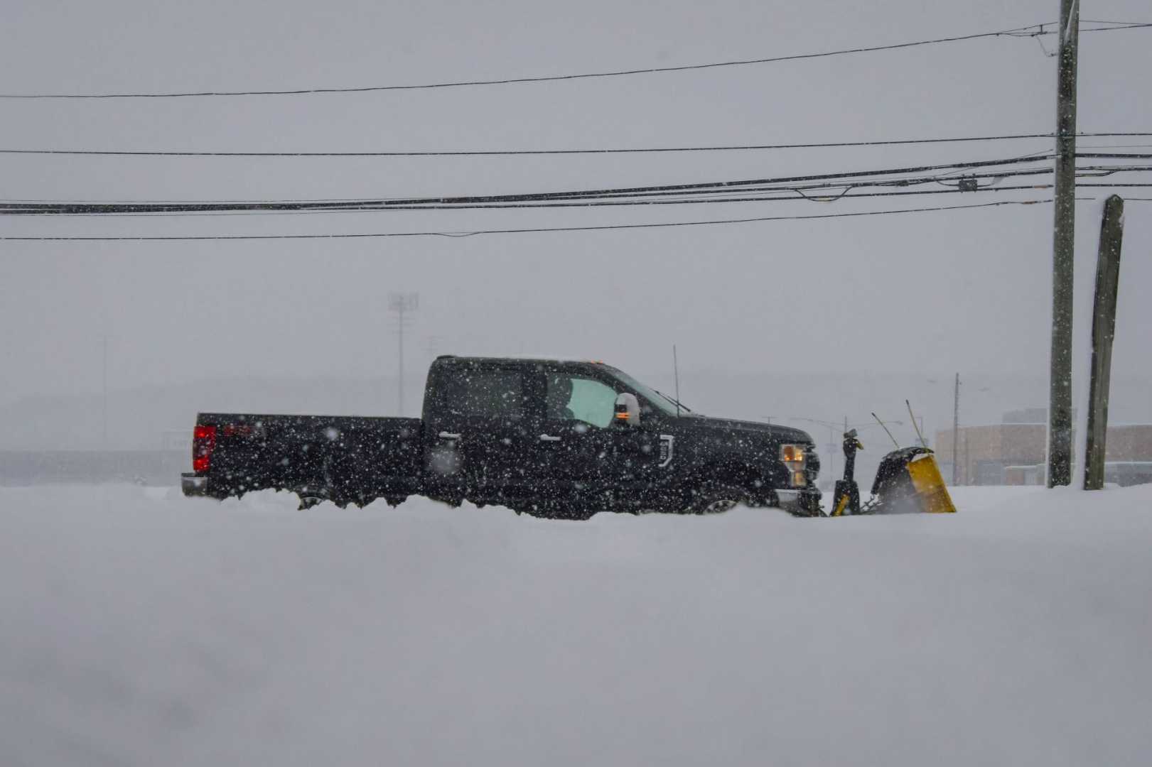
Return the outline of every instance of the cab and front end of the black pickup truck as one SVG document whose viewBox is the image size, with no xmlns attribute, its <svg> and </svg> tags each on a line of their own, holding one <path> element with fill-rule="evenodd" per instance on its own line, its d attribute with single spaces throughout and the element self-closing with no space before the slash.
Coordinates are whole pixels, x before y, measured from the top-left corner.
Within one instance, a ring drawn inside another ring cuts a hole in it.
<svg viewBox="0 0 1152 767">
<path fill-rule="evenodd" d="M 423 423 L 425 489 L 449 502 L 562 517 L 819 504 L 804 432 L 699 416 L 600 362 L 439 357 Z"/>
</svg>

